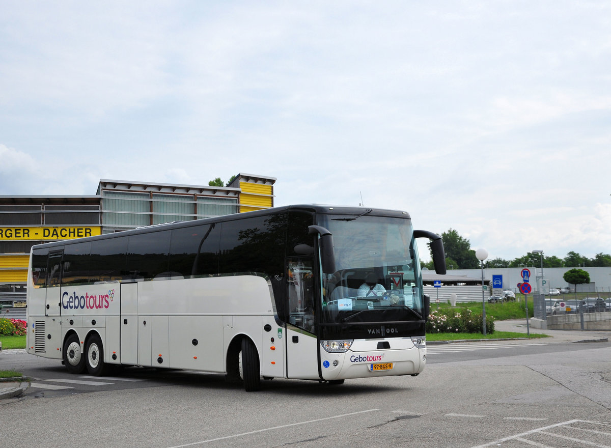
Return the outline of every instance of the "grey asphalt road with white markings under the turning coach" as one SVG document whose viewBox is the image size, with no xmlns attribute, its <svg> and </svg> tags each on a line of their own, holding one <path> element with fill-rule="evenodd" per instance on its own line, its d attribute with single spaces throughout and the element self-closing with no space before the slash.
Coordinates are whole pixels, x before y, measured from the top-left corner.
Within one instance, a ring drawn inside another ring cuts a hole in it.
<svg viewBox="0 0 611 448">
<path fill-rule="evenodd" d="M 251 393 L 222 375 L 80 378 L 1 354 L 2 369 L 36 380 L 0 402 L 0 432 L 12 447 L 611 446 L 611 343 L 538 342 L 430 345 L 415 378 L 273 380 Z"/>
</svg>

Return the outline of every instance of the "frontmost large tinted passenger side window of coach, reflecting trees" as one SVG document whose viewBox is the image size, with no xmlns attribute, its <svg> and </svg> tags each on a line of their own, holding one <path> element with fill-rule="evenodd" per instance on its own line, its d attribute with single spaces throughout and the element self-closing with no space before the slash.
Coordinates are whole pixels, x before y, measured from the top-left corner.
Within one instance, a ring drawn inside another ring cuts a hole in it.
<svg viewBox="0 0 611 448">
<path fill-rule="evenodd" d="M 260 216 L 222 223 L 221 273 L 284 273 L 287 215 Z"/>
</svg>

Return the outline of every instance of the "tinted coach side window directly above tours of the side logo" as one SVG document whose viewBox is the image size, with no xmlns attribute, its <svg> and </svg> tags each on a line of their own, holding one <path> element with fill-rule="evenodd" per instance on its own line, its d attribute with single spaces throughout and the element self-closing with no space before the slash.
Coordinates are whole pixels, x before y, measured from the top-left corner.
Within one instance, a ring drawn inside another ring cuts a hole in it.
<svg viewBox="0 0 611 448">
<path fill-rule="evenodd" d="M 125 273 L 127 237 L 91 242 L 91 281 L 122 280 Z"/>
</svg>

